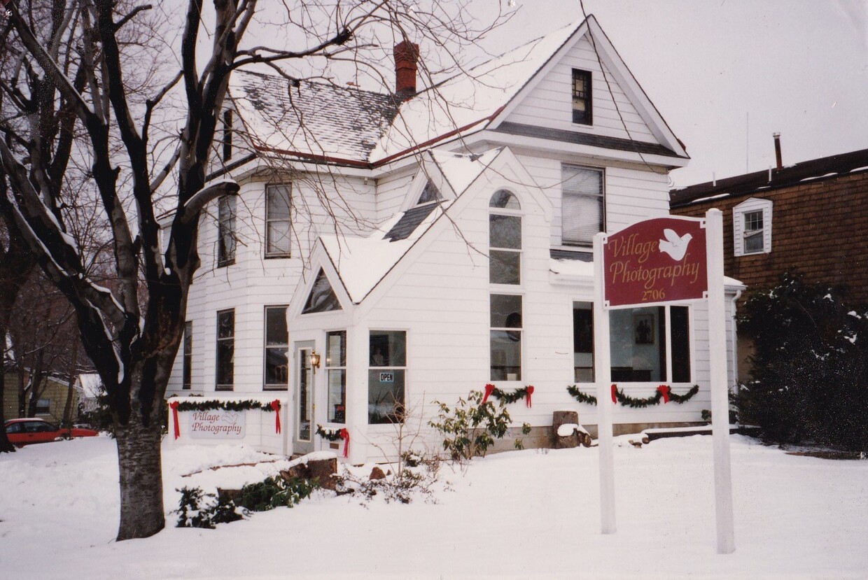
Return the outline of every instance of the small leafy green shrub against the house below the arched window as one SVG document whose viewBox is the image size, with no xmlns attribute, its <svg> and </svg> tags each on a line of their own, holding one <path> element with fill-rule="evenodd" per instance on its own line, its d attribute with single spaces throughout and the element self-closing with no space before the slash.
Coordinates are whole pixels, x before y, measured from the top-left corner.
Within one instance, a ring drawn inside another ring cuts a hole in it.
<svg viewBox="0 0 868 580">
<path fill-rule="evenodd" d="M 434 401 L 440 411 L 436 420 L 428 424 L 439 432 L 443 448 L 456 461 L 470 459 L 476 455 L 485 456 L 494 440 L 503 438 L 510 428 L 510 413 L 506 401 L 500 399 L 483 402 L 481 391 L 470 391 L 465 401 L 459 397 L 454 407 Z"/>
</svg>

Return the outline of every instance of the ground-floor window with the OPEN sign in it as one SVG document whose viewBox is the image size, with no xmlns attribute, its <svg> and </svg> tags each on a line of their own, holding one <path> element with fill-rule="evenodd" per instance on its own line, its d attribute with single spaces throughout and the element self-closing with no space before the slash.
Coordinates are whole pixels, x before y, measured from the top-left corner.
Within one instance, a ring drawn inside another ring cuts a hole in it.
<svg viewBox="0 0 868 580">
<path fill-rule="evenodd" d="M 368 423 L 399 423 L 405 411 L 407 333 L 372 330 L 368 353 Z"/>
</svg>

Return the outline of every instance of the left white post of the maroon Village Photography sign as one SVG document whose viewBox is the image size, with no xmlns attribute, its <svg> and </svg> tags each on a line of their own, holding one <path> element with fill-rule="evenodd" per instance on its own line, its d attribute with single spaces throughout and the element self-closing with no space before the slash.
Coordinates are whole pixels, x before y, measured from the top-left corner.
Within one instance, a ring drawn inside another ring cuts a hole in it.
<svg viewBox="0 0 868 580">
<path fill-rule="evenodd" d="M 600 518 L 602 533 L 614 534 L 615 458 L 612 450 L 611 357 L 609 353 L 608 310 L 603 307 L 602 244 L 606 234 L 594 236 L 594 379 L 597 396 L 597 442 L 600 450 Z"/>
</svg>

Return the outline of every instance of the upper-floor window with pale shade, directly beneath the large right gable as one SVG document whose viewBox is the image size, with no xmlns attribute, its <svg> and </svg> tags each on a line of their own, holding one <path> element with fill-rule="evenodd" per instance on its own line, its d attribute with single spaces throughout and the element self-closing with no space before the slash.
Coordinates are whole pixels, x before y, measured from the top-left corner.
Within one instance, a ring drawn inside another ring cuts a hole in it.
<svg viewBox="0 0 868 580">
<path fill-rule="evenodd" d="M 561 243 L 591 245 L 605 230 L 602 170 L 561 166 Z"/>
</svg>

